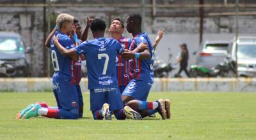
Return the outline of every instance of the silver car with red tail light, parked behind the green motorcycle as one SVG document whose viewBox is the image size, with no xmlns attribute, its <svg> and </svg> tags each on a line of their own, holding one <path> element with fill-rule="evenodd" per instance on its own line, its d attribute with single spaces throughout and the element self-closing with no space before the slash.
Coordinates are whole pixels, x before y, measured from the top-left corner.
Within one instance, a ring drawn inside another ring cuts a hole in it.
<svg viewBox="0 0 256 140">
<path fill-rule="evenodd" d="M 196 65 L 212 69 L 227 57 L 230 41 L 205 41 L 196 53 Z"/>
</svg>

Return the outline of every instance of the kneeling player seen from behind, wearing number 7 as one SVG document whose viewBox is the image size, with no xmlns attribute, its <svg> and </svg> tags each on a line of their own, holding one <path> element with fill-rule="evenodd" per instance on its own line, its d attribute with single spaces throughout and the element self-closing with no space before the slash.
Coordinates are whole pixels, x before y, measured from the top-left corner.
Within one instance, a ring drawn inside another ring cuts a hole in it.
<svg viewBox="0 0 256 140">
<path fill-rule="evenodd" d="M 111 38 L 104 38 L 106 23 L 103 20 L 92 21 L 92 41 L 83 42 L 76 48 L 67 50 L 60 45 L 57 38 L 54 44 L 63 55 L 77 57 L 84 54 L 88 67 L 88 89 L 90 89 L 90 105 L 95 120 L 111 120 L 113 111 L 116 119 L 124 120 L 127 114 L 132 114 L 135 120 L 141 116 L 129 106 L 123 108 L 120 90 L 116 79 L 115 56 L 124 52 L 124 48 Z"/>
</svg>

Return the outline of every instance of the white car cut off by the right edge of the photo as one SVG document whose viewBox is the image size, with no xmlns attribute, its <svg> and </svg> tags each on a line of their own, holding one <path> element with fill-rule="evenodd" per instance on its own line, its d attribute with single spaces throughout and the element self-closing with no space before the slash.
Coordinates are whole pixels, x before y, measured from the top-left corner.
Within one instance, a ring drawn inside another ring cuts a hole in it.
<svg viewBox="0 0 256 140">
<path fill-rule="evenodd" d="M 236 46 L 237 43 L 237 46 Z M 236 61 L 237 74 L 243 77 L 256 77 L 256 36 L 241 36 L 234 38 L 228 45 L 228 54 Z"/>
</svg>

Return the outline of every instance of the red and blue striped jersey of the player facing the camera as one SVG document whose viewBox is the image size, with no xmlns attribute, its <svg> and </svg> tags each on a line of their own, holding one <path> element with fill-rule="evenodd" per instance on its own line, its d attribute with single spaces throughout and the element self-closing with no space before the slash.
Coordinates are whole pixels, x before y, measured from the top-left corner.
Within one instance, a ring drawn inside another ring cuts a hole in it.
<svg viewBox="0 0 256 140">
<path fill-rule="evenodd" d="M 124 49 L 129 49 L 129 46 L 131 45 L 131 39 L 129 38 L 121 37 L 117 39 L 117 41 Z M 128 60 L 122 59 L 120 54 L 116 55 L 116 77 L 119 86 L 127 86 L 130 82 L 128 62 Z"/>
</svg>

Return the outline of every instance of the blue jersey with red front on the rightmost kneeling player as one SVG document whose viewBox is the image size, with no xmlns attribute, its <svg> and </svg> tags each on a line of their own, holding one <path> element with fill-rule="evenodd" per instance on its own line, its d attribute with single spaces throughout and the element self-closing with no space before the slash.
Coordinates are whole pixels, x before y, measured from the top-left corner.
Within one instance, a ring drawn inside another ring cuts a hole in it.
<svg viewBox="0 0 256 140">
<path fill-rule="evenodd" d="M 129 60 L 129 76 L 134 80 L 147 81 L 148 83 L 154 82 L 154 49 L 147 33 L 141 33 L 134 36 L 129 50 L 134 50 L 141 43 L 148 44 L 148 50 L 150 52 L 150 59 L 131 59 Z"/>
</svg>

